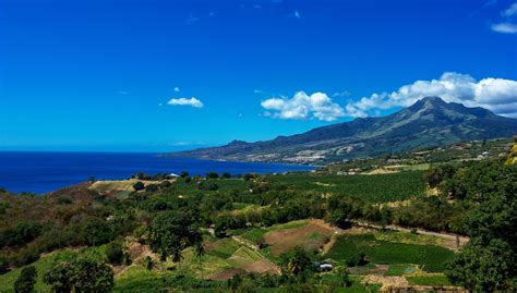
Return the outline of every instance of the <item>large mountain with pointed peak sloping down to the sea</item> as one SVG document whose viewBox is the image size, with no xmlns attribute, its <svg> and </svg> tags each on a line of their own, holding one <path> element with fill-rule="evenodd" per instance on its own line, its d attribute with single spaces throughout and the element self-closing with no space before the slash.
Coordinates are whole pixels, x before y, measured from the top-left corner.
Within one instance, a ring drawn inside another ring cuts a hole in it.
<svg viewBox="0 0 517 293">
<path fill-rule="evenodd" d="M 326 163 L 375 157 L 417 148 L 438 147 L 460 141 L 509 137 L 517 134 L 517 119 L 483 108 L 467 108 L 426 97 L 400 111 L 380 118 L 317 127 L 272 141 L 233 141 L 220 147 L 169 154 L 218 160 Z"/>
</svg>

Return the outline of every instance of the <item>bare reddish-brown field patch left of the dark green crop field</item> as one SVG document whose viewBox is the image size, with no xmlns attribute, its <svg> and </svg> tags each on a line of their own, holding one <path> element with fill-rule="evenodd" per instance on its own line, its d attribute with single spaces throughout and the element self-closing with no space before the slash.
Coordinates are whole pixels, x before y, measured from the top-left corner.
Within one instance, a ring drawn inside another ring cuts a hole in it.
<svg viewBox="0 0 517 293">
<path fill-rule="evenodd" d="M 276 256 L 297 245 L 312 251 L 323 248 L 334 232 L 335 229 L 329 224 L 314 219 L 300 228 L 269 232 L 264 235 L 264 241 L 272 246 L 272 253 Z"/>
</svg>

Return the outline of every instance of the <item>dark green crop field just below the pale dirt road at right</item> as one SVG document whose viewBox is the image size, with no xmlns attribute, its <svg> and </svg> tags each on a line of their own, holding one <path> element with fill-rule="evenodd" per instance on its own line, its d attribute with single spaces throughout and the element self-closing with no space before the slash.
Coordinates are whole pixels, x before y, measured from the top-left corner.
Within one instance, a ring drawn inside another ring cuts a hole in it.
<svg viewBox="0 0 517 293">
<path fill-rule="evenodd" d="M 429 272 L 443 271 L 454 253 L 435 245 L 419 245 L 376 240 L 373 234 L 340 236 L 326 257 L 346 260 L 363 252 L 377 265 L 419 265 Z"/>
</svg>

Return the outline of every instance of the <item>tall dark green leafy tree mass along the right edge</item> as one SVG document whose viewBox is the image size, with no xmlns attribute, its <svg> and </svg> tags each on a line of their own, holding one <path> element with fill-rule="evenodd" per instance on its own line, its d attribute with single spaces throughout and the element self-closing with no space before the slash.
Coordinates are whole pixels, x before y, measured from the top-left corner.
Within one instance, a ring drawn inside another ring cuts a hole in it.
<svg viewBox="0 0 517 293">
<path fill-rule="evenodd" d="M 479 169 L 479 166 L 484 168 Z M 480 203 L 465 223 L 470 242 L 455 255 L 446 274 L 453 283 L 472 291 L 515 292 L 517 168 L 500 168 L 492 162 L 479 166 L 462 172 L 469 183 L 467 197 Z M 472 184 L 477 187 L 472 188 Z"/>
</svg>

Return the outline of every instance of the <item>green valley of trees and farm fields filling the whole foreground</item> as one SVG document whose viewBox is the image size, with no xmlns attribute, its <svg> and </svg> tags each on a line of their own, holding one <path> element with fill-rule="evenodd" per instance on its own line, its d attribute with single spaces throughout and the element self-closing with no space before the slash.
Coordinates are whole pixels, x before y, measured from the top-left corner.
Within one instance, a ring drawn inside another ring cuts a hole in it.
<svg viewBox="0 0 517 293">
<path fill-rule="evenodd" d="M 353 292 L 377 266 L 411 284 L 515 290 L 517 170 L 505 158 L 374 175 L 128 182 L 143 188 L 92 181 L 45 197 L 0 193 L 0 291 Z M 348 230 L 357 222 L 408 232 Z M 471 241 L 455 253 L 417 228 Z"/>
</svg>

